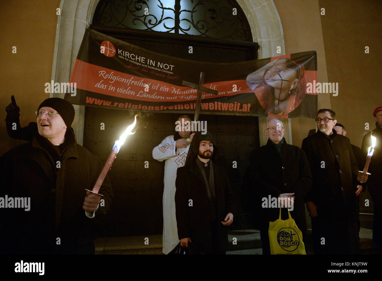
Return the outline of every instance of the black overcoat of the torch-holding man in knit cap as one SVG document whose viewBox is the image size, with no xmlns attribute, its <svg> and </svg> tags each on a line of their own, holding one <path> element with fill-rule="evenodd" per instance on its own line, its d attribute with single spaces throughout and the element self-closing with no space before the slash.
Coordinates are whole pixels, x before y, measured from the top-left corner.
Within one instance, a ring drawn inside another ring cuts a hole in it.
<svg viewBox="0 0 382 281">
<path fill-rule="evenodd" d="M 30 211 L 0 209 L 0 251 L 52 254 L 91 250 L 95 238 L 92 230 L 100 214 L 110 209 L 113 192 L 106 177 L 99 192 L 104 195 L 105 205 L 100 205 L 91 219 L 82 208 L 84 189 L 92 189 L 103 165 L 78 145 L 73 131 L 68 130 L 65 137 L 69 141 L 56 174 L 52 158 L 36 136 L 0 158 L 0 197 L 31 198 Z"/>
</svg>

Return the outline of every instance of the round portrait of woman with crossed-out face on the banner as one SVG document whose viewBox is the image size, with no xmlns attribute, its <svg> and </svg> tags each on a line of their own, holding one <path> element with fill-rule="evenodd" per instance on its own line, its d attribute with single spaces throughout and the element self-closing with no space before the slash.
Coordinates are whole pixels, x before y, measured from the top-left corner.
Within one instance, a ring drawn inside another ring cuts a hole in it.
<svg viewBox="0 0 382 281">
<path fill-rule="evenodd" d="M 288 114 L 299 106 L 305 93 L 303 65 L 278 58 L 249 74 L 246 79 L 261 104 L 276 115 Z"/>
</svg>

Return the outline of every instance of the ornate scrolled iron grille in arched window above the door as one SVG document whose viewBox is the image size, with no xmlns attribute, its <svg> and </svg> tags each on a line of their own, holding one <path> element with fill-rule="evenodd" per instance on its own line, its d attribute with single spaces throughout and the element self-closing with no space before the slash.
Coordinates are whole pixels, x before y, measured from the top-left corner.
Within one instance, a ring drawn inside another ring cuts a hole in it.
<svg viewBox="0 0 382 281">
<path fill-rule="evenodd" d="M 101 0 L 93 24 L 252 41 L 248 21 L 233 0 Z"/>
</svg>

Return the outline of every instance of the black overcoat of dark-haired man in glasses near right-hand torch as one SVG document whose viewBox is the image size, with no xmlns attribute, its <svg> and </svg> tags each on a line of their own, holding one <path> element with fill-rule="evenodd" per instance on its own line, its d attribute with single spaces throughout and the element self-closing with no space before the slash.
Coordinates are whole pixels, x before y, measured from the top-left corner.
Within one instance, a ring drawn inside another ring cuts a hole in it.
<svg viewBox="0 0 382 281">
<path fill-rule="evenodd" d="M 313 183 L 305 202 L 316 204 L 319 216 L 332 221 L 357 221 L 357 201 L 353 187 L 358 166 L 350 140 L 332 130 L 332 135 L 317 131 L 304 138 Z M 358 183 L 359 185 L 363 185 Z"/>
</svg>

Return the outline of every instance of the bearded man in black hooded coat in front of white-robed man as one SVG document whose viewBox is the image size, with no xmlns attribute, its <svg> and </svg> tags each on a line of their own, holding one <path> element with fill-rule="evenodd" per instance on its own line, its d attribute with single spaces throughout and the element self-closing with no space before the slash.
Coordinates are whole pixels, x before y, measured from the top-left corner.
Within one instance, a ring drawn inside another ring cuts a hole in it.
<svg viewBox="0 0 382 281">
<path fill-rule="evenodd" d="M 235 196 L 216 154 L 212 134 L 197 132 L 185 166 L 176 172 L 175 213 L 181 246 L 192 242 L 204 254 L 225 254 L 227 227 L 236 213 Z"/>
</svg>

